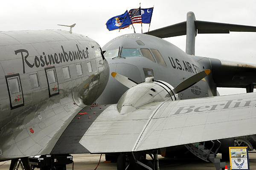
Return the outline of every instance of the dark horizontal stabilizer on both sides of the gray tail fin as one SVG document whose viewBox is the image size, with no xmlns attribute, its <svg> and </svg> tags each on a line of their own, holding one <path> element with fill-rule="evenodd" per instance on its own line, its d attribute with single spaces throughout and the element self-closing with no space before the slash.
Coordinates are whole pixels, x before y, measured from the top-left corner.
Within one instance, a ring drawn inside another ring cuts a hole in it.
<svg viewBox="0 0 256 170">
<path fill-rule="evenodd" d="M 256 32 L 255 26 L 243 26 L 236 24 L 215 23 L 199 20 L 195 20 L 195 27 L 197 29 L 198 34 L 229 34 L 230 31 Z M 153 31 L 149 31 L 148 33 L 146 32 L 144 34 L 149 34 L 160 38 L 186 35 L 186 21 L 171 26 L 159 28 Z"/>
</svg>

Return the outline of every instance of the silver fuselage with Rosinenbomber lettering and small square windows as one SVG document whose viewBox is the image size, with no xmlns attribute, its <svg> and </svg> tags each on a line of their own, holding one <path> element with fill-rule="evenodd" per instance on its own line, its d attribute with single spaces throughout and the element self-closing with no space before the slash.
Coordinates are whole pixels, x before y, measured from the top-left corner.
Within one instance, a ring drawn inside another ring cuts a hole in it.
<svg viewBox="0 0 256 170">
<path fill-rule="evenodd" d="M 1 31 L 0 55 L 0 161 L 49 154 L 108 82 L 99 44 L 71 31 Z"/>
</svg>

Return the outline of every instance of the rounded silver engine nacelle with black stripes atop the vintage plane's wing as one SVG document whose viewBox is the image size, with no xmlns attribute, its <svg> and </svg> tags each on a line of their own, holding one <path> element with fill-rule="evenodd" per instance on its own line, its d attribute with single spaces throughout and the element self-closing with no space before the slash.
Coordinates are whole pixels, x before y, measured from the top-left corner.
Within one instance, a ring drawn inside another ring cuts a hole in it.
<svg viewBox="0 0 256 170">
<path fill-rule="evenodd" d="M 145 82 L 128 89 L 117 103 L 119 113 L 126 114 L 151 102 L 178 100 L 172 85 L 147 77 Z"/>
</svg>

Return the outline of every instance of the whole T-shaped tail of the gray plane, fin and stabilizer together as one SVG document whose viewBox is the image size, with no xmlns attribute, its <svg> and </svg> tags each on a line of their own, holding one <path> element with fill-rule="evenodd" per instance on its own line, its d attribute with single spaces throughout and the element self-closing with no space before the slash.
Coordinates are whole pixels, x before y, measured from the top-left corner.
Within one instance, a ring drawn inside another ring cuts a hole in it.
<svg viewBox="0 0 256 170">
<path fill-rule="evenodd" d="M 256 32 L 256 27 L 198 21 L 195 20 L 195 14 L 193 12 L 188 12 L 186 21 L 149 31 L 144 34 L 160 38 L 186 35 L 186 54 L 195 55 L 195 36 L 197 34 L 229 34 L 230 31 Z"/>
</svg>

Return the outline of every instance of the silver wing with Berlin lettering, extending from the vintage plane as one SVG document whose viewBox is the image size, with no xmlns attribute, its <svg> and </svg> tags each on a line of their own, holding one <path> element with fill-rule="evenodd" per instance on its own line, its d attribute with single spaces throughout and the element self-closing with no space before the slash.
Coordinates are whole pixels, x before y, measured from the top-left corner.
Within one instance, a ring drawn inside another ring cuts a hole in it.
<svg viewBox="0 0 256 170">
<path fill-rule="evenodd" d="M 100 113 L 99 108 L 87 107 L 98 115 L 87 125 L 73 125 L 82 131 L 76 145 L 86 153 L 130 152 L 256 134 L 255 97 L 249 93 L 152 102 L 126 114 L 120 114 L 116 105 L 105 106 Z M 58 141 L 55 147 L 71 146 L 64 143 Z"/>
</svg>

